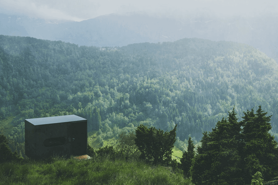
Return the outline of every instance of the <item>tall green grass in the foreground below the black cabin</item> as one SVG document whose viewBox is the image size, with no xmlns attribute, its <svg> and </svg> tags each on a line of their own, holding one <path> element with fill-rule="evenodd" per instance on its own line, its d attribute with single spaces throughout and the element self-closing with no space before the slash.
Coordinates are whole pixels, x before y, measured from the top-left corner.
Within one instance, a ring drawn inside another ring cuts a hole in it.
<svg viewBox="0 0 278 185">
<path fill-rule="evenodd" d="M 0 184 L 187 185 L 192 183 L 190 179 L 184 179 L 182 174 L 174 173 L 169 168 L 154 167 L 144 162 L 121 159 L 78 161 L 74 158 L 59 158 L 50 162 L 3 163 L 0 165 Z"/>
</svg>

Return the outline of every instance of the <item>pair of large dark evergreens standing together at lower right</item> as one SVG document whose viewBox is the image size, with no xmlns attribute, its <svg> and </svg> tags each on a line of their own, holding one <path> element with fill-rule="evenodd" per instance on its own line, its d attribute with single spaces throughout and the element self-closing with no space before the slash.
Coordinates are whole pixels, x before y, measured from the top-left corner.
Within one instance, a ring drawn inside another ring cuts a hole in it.
<svg viewBox="0 0 278 185">
<path fill-rule="evenodd" d="M 271 116 L 261 106 L 256 114 L 253 109 L 244 114 L 238 122 L 233 109 L 228 121 L 223 118 L 204 133 L 191 168 L 194 183 L 246 184 L 256 171 L 267 180 L 277 176 L 277 142 L 268 132 Z"/>
</svg>

